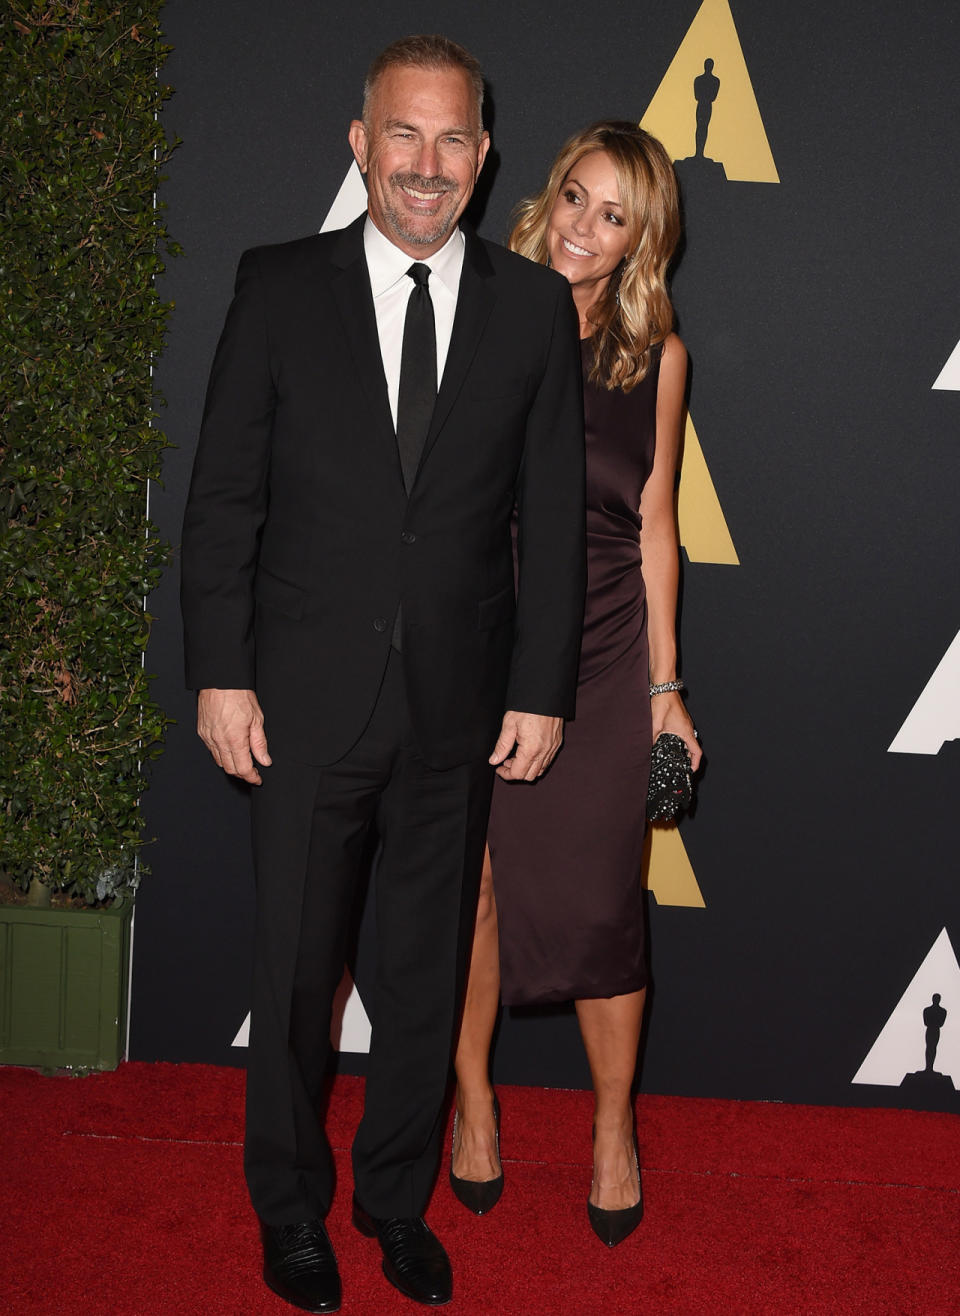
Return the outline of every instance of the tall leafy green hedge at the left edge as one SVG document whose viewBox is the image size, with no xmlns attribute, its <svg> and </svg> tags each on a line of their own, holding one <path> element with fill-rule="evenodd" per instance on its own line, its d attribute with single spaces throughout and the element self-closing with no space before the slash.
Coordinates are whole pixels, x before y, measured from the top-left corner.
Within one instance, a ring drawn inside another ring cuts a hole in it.
<svg viewBox="0 0 960 1316">
<path fill-rule="evenodd" d="M 0 867 L 95 903 L 136 887 L 165 724 L 141 655 L 167 47 L 157 0 L 4 8 Z"/>
</svg>

